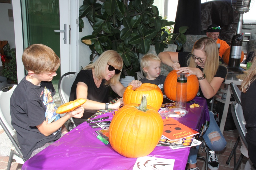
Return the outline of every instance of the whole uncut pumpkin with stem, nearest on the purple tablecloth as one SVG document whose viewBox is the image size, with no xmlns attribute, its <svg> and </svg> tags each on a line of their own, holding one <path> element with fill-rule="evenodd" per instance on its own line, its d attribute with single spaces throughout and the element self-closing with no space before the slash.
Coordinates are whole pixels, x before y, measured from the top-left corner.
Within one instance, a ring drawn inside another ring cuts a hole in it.
<svg viewBox="0 0 256 170">
<path fill-rule="evenodd" d="M 147 156 L 156 147 L 163 133 L 163 120 L 146 96 L 141 104 L 127 104 L 113 117 L 109 127 L 112 148 L 127 158 Z"/>
</svg>

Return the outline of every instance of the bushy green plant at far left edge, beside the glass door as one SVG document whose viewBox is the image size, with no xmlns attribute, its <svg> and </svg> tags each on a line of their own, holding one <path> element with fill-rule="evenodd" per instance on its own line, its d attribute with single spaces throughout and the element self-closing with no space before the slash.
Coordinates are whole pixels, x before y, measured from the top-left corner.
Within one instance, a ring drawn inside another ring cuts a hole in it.
<svg viewBox="0 0 256 170">
<path fill-rule="evenodd" d="M 10 58 L 9 62 L 5 63 L 5 67 L 2 70 L 2 75 L 11 80 L 11 83 L 17 84 L 17 63 L 16 63 L 16 49 L 10 50 L 9 44 L 3 47 L 4 54 L 7 58 Z"/>
</svg>

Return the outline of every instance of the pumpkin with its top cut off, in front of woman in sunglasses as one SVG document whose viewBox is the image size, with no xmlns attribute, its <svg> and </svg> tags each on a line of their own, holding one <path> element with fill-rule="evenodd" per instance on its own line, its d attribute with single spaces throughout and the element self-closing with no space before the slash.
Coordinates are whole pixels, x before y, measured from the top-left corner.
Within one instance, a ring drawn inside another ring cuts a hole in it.
<svg viewBox="0 0 256 170">
<path fill-rule="evenodd" d="M 163 93 L 157 85 L 150 83 L 143 83 L 135 90 L 132 90 L 131 85 L 128 86 L 123 94 L 124 105 L 129 103 L 140 104 L 143 94 L 147 95 L 147 104 L 158 111 L 163 102 Z"/>
</svg>

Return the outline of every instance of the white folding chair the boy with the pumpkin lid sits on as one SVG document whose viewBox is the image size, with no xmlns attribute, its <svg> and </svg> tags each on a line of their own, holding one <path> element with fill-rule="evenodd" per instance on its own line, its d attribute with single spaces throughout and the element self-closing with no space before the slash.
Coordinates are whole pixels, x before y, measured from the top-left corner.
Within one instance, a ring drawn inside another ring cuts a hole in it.
<svg viewBox="0 0 256 170">
<path fill-rule="evenodd" d="M 7 84 L 2 86 L 0 89 L 0 125 L 4 129 L 13 145 L 11 147 L 7 170 L 11 169 L 11 163 L 13 162 L 13 159 L 15 159 L 17 163 L 23 164 L 25 162 L 18 145 L 18 140 L 15 140 L 16 131 L 11 124 L 10 98 L 16 86 L 16 84 Z"/>
</svg>

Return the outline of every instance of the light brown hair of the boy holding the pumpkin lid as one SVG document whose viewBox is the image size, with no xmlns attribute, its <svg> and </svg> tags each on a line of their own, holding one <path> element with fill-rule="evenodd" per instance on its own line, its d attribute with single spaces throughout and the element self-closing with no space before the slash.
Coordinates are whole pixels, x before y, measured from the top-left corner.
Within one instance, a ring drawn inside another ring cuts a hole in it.
<svg viewBox="0 0 256 170">
<path fill-rule="evenodd" d="M 22 62 L 26 70 L 35 74 L 55 72 L 59 68 L 60 59 L 55 52 L 43 44 L 32 44 L 22 54 Z"/>
</svg>

